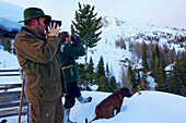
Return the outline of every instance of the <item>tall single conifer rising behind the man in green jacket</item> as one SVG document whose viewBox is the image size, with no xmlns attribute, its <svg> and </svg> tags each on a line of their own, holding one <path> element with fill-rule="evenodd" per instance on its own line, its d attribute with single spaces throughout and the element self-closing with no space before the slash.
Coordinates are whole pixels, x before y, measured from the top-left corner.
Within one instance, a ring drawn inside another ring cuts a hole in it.
<svg viewBox="0 0 186 123">
<path fill-rule="evenodd" d="M 101 39 L 100 35 L 102 32 L 98 32 L 98 29 L 102 27 L 102 17 L 97 19 L 96 16 L 97 13 L 94 14 L 94 7 L 91 8 L 90 4 L 83 4 L 82 7 L 79 2 L 79 10 L 75 11 L 75 21 L 72 21 L 71 25 L 71 34 L 79 36 L 85 46 L 84 70 L 86 70 L 88 63 L 88 47 L 95 47 Z M 86 88 L 86 82 L 84 85 Z"/>
</svg>

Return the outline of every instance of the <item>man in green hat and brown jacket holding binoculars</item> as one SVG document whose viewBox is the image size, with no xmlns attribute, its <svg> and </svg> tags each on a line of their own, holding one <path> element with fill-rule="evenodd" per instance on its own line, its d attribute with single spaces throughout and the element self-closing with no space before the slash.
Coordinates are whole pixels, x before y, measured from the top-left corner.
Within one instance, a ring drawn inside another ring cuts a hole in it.
<svg viewBox="0 0 186 123">
<path fill-rule="evenodd" d="M 20 65 L 26 73 L 26 98 L 31 103 L 31 123 L 63 123 L 63 77 L 56 57 L 59 45 L 59 25 L 49 25 L 46 38 L 45 15 L 42 9 L 24 10 L 24 25 L 13 46 Z"/>
</svg>

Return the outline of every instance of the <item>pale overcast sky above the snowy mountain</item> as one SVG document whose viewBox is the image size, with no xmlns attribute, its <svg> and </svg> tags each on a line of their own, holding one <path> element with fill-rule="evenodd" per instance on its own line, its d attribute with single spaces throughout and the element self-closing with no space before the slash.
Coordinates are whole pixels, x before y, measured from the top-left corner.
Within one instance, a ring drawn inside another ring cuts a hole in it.
<svg viewBox="0 0 186 123">
<path fill-rule="evenodd" d="M 186 0 L 2 0 L 22 8 L 38 7 L 68 29 L 78 2 L 95 5 L 98 16 L 113 16 L 133 23 L 186 28 Z M 22 20 L 22 19 L 21 19 Z"/>
</svg>

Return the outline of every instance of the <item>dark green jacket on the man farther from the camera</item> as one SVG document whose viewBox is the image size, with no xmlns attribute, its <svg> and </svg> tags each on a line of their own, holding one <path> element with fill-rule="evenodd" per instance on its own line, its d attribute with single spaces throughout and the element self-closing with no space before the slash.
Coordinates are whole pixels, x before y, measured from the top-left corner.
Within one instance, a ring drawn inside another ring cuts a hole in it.
<svg viewBox="0 0 186 123">
<path fill-rule="evenodd" d="M 66 84 L 75 82 L 80 78 L 75 58 L 84 54 L 85 49 L 81 42 L 74 44 L 74 46 L 61 42 L 60 52 L 57 57 L 62 66 Z"/>
</svg>

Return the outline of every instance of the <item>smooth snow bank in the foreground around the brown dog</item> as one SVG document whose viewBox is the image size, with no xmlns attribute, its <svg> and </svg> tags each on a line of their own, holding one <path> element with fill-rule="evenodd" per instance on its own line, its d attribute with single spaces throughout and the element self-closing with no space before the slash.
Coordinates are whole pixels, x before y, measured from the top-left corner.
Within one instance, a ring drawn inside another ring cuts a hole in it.
<svg viewBox="0 0 186 123">
<path fill-rule="evenodd" d="M 141 91 L 131 98 L 124 98 L 120 112 L 112 119 L 101 119 L 93 123 L 186 123 L 186 98 L 160 91 Z M 94 119 L 95 107 L 105 99 L 109 93 L 82 91 L 84 97 L 93 97 L 92 102 L 82 104 L 75 102 L 70 119 L 78 123 Z M 63 100 L 62 100 L 63 101 Z M 4 118 L 8 123 L 15 123 L 18 116 Z M 1 121 L 2 119 L 0 119 Z M 26 116 L 22 116 L 26 123 Z"/>
</svg>

